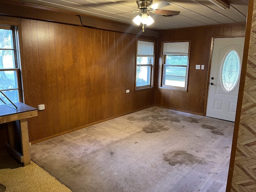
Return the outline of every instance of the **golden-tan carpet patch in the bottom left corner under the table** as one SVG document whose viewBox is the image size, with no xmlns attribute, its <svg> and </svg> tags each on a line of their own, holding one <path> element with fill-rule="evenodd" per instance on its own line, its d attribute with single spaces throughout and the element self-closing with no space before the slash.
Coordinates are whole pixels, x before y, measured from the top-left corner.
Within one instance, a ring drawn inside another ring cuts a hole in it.
<svg viewBox="0 0 256 192">
<path fill-rule="evenodd" d="M 9 162 L 7 162 L 8 164 Z M 31 162 L 26 167 L 3 168 L 1 161 L 0 184 L 6 190 L 0 188 L 0 192 L 71 192 L 69 188 L 61 184 L 56 178 Z"/>
</svg>

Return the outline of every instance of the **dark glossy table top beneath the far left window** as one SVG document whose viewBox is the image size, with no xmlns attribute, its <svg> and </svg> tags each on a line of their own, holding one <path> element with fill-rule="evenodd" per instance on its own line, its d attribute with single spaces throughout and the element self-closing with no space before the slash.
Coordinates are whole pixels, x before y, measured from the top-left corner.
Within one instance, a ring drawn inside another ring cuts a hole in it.
<svg viewBox="0 0 256 192">
<path fill-rule="evenodd" d="M 18 107 L 18 109 L 14 109 L 14 108 L 12 108 L 10 106 L 7 106 L 5 104 L 0 105 L 0 117 L 37 110 L 36 108 L 31 107 L 31 106 L 26 105 L 26 104 L 21 103 L 21 102 L 14 103 L 14 104 Z"/>
</svg>

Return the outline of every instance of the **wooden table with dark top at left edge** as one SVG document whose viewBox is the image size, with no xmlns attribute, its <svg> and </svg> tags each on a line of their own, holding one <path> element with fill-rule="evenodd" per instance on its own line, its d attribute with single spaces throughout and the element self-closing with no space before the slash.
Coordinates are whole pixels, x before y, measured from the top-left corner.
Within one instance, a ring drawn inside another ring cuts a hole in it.
<svg viewBox="0 0 256 192">
<path fill-rule="evenodd" d="M 15 105 L 18 107 L 18 109 L 14 109 L 4 104 L 0 105 L 0 124 L 8 124 L 10 143 L 6 144 L 7 152 L 22 162 L 24 166 L 27 166 L 30 164 L 27 118 L 36 117 L 37 109 L 20 102 L 15 103 Z M 13 122 L 17 120 L 20 122 L 20 127 L 14 129 Z M 22 154 L 15 149 L 15 131 L 17 130 L 20 131 Z"/>
</svg>

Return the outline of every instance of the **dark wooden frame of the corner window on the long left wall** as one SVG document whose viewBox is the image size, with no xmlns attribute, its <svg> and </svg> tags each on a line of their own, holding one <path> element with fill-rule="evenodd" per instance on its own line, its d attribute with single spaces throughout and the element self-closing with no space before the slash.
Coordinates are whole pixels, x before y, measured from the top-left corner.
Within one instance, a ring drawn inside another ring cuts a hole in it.
<svg viewBox="0 0 256 192">
<path fill-rule="evenodd" d="M 138 41 L 142 42 L 152 42 L 154 49 L 153 49 L 153 55 L 148 55 L 148 57 L 153 57 L 151 60 L 151 64 L 138 64 L 137 63 L 137 58 L 138 58 Z M 156 41 L 155 40 L 148 40 L 148 39 L 142 39 L 142 38 L 137 38 L 136 40 L 136 61 L 135 61 L 135 90 L 144 90 L 148 88 L 154 87 L 154 63 L 155 63 L 155 51 L 156 51 Z M 137 86 L 137 67 L 138 66 L 150 66 L 150 84 L 145 85 L 145 86 Z"/>
</svg>

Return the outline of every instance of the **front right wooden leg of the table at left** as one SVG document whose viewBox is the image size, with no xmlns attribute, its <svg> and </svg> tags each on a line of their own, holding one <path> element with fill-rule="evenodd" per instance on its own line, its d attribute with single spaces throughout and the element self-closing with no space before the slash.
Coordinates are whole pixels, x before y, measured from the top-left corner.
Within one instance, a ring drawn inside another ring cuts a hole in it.
<svg viewBox="0 0 256 192">
<path fill-rule="evenodd" d="M 21 142 L 22 142 L 22 154 L 24 156 L 24 166 L 30 164 L 30 151 L 29 151 L 29 140 L 28 140 L 28 122 L 27 119 L 20 120 L 21 129 Z"/>
</svg>

